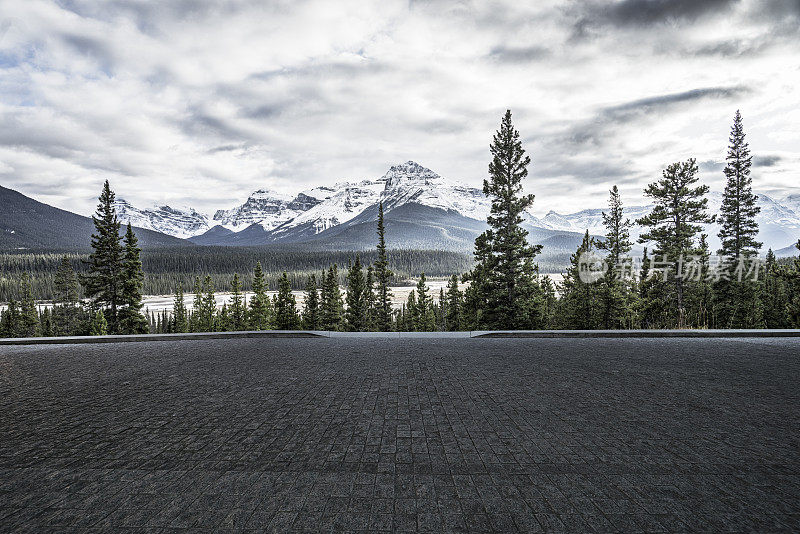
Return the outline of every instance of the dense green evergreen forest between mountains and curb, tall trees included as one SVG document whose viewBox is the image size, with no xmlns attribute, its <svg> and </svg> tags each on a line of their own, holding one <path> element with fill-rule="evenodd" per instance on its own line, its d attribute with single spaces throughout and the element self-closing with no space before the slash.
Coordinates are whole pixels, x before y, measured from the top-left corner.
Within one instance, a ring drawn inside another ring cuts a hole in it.
<svg viewBox="0 0 800 534">
<path fill-rule="evenodd" d="M 108 182 L 100 195 L 88 255 L 0 256 L 0 337 L 143 332 L 309 329 L 435 331 L 619 328 L 800 328 L 800 256 L 761 256 L 752 156 L 734 116 L 720 213 L 708 212 L 708 186 L 693 158 L 668 165 L 644 193 L 652 211 L 631 221 L 616 186 L 603 213 L 606 234 L 587 231 L 558 284 L 543 275 L 522 227 L 534 195 L 522 192 L 531 163 L 506 112 L 491 145 L 483 192 L 489 229 L 472 258 L 441 251 L 388 250 L 380 204 L 374 252 L 309 252 L 286 247 L 152 249 L 130 225 L 121 233 Z M 720 223 L 720 250 L 703 224 Z M 630 228 L 645 231 L 641 258 Z M 800 240 L 796 247 L 800 254 Z M 237 274 L 238 273 L 238 274 Z M 459 276 L 459 273 L 460 276 Z M 435 298 L 430 276 L 450 275 Z M 416 280 L 399 310 L 392 282 Z M 344 287 L 344 291 L 342 288 Z M 297 302 L 292 289 L 305 295 Z M 277 290 L 269 297 L 267 291 Z M 243 291 L 252 296 L 247 301 Z M 217 307 L 216 291 L 230 298 Z M 191 307 L 184 292 L 194 293 Z M 171 314 L 145 317 L 142 294 L 174 293 Z M 55 305 L 37 309 L 36 298 Z"/>
</svg>

